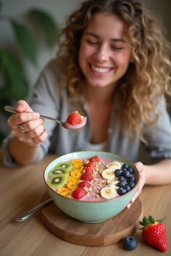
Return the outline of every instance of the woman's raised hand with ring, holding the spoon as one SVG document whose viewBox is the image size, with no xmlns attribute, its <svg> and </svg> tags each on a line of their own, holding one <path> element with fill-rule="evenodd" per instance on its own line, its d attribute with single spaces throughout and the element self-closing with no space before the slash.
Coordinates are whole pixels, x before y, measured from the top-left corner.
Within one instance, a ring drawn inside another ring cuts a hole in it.
<svg viewBox="0 0 171 256">
<path fill-rule="evenodd" d="M 39 113 L 33 112 L 33 109 L 26 101 L 17 101 L 15 108 L 17 114 L 8 118 L 9 129 L 19 141 L 36 147 L 47 139 L 47 130 L 44 129 L 44 120 L 40 118 Z"/>
</svg>

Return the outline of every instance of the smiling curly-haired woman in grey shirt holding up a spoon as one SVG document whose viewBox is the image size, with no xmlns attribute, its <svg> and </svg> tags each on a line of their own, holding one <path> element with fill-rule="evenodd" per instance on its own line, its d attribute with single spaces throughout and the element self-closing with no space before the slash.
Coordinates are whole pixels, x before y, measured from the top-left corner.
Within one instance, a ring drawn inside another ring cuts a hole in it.
<svg viewBox="0 0 171 256">
<path fill-rule="evenodd" d="M 169 80 L 167 42 L 143 4 L 84 1 L 68 17 L 57 58 L 42 71 L 31 104 L 18 101 L 18 114 L 8 119 L 12 160 L 25 165 L 47 152 L 105 150 L 137 162 L 142 141 L 155 163 L 135 163 L 141 179 L 129 208 L 144 184 L 171 182 L 171 124 L 164 101 Z M 75 110 L 88 122 L 74 132 L 37 114 L 65 120 Z"/>
</svg>

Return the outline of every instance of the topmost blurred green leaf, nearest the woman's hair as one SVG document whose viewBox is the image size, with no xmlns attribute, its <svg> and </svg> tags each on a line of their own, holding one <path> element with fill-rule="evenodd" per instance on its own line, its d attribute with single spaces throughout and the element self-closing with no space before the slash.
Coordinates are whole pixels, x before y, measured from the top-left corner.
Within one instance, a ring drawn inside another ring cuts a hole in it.
<svg viewBox="0 0 171 256">
<path fill-rule="evenodd" d="M 55 44 L 55 39 L 57 39 L 58 28 L 55 20 L 47 12 L 40 9 L 31 9 L 28 13 L 28 18 L 36 20 L 44 31 L 45 39 L 47 45 L 52 47 Z"/>
</svg>

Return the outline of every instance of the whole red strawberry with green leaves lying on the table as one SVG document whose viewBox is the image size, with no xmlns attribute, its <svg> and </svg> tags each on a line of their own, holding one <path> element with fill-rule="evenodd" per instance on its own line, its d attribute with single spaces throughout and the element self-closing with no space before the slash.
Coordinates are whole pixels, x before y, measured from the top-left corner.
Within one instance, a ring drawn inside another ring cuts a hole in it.
<svg viewBox="0 0 171 256">
<path fill-rule="evenodd" d="M 154 220 L 152 216 L 148 216 L 148 218 L 143 217 L 143 221 L 140 222 L 140 225 L 143 226 L 140 228 L 143 240 L 160 252 L 165 252 L 168 249 L 167 231 L 162 223 L 163 220 Z"/>
</svg>

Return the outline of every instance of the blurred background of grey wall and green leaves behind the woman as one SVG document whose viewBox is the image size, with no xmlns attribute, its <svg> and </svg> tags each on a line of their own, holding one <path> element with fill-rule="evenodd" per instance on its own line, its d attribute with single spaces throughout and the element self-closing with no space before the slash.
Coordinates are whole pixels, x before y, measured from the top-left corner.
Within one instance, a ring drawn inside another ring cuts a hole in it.
<svg viewBox="0 0 171 256">
<path fill-rule="evenodd" d="M 0 144 L 8 133 L 4 105 L 29 99 L 41 69 L 55 57 L 60 26 L 82 1 L 0 0 Z M 142 1 L 162 20 L 171 42 L 171 1 Z"/>
</svg>

